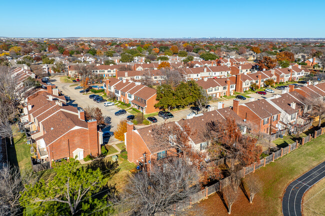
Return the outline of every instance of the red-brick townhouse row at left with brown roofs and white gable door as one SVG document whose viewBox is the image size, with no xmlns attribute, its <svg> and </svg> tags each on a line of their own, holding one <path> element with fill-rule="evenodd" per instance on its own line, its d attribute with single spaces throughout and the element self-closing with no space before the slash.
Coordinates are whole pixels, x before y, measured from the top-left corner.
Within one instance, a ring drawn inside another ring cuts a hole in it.
<svg viewBox="0 0 325 216">
<path fill-rule="evenodd" d="M 85 121 L 84 111 L 67 105 L 55 85 L 25 97 L 20 121 L 30 131 L 39 164 L 100 154 L 102 132 L 96 120 Z"/>
</svg>

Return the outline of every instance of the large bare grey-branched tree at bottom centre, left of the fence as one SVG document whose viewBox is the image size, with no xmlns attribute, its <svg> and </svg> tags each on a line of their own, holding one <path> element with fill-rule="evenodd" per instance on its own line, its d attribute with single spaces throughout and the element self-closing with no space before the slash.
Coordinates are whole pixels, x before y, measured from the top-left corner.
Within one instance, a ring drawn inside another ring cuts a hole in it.
<svg viewBox="0 0 325 216">
<path fill-rule="evenodd" d="M 177 203 L 186 201 L 198 191 L 198 175 L 186 161 L 178 158 L 162 160 L 152 165 L 150 175 L 132 175 L 122 192 L 122 205 L 131 209 L 132 216 L 154 216 L 157 213 L 175 214 Z"/>
</svg>

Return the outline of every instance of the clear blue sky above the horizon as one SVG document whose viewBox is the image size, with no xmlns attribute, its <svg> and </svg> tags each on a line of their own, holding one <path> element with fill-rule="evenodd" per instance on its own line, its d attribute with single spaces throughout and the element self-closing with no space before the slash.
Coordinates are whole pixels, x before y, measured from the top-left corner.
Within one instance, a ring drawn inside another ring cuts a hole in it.
<svg viewBox="0 0 325 216">
<path fill-rule="evenodd" d="M 8 37 L 325 37 L 325 1 L 3 1 Z M 317 8 L 320 10 L 317 12 Z M 317 26 L 319 26 L 317 28 Z"/>
</svg>

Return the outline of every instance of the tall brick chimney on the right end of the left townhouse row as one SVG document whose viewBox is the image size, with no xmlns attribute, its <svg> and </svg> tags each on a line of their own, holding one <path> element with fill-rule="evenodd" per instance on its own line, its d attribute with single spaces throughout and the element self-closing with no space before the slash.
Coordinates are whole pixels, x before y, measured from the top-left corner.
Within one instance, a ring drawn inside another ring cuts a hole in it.
<svg viewBox="0 0 325 216">
<path fill-rule="evenodd" d="M 87 122 L 87 126 L 88 126 L 88 145 L 84 145 L 84 146 L 88 147 L 88 149 L 85 149 L 85 151 L 89 152 L 92 156 L 96 157 L 99 155 L 99 149 L 100 149 L 100 144 L 98 142 L 98 136 L 97 136 L 97 121 L 95 119 L 91 119 Z M 86 140 L 83 140 L 83 142 L 86 142 Z"/>
</svg>

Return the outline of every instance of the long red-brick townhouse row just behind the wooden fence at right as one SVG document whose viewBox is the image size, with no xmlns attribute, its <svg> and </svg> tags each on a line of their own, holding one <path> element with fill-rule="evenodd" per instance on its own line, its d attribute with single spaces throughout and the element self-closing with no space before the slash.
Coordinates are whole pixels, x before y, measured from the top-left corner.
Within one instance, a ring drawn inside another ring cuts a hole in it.
<svg viewBox="0 0 325 216">
<path fill-rule="evenodd" d="M 239 100 L 233 100 L 233 106 L 223 108 L 223 104 L 217 110 L 195 115 L 189 119 L 178 122 L 168 122 L 166 127 L 176 125 L 182 129 L 185 125 L 192 133 L 189 136 L 189 144 L 198 151 L 204 151 L 209 142 L 203 139 L 200 131 L 208 122 L 225 118 L 234 119 L 240 126 L 242 133 L 247 130 L 253 134 L 274 134 L 277 131 L 288 129 L 294 132 L 294 125 L 306 125 L 309 123 L 311 112 L 308 106 L 310 98 L 325 101 L 325 83 L 315 83 L 301 88 L 290 85 L 286 93 L 273 95 L 273 97 L 261 100 L 250 99 L 250 102 L 239 104 Z M 127 123 L 125 134 L 125 146 L 128 153 L 127 160 L 137 165 L 147 166 L 148 161 L 159 160 L 166 156 L 165 149 L 156 145 L 152 130 L 154 126 L 134 129 L 131 122 Z M 145 155 L 145 158 L 144 158 Z"/>
</svg>

